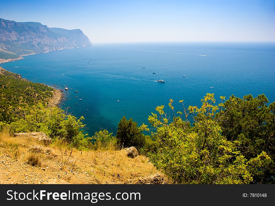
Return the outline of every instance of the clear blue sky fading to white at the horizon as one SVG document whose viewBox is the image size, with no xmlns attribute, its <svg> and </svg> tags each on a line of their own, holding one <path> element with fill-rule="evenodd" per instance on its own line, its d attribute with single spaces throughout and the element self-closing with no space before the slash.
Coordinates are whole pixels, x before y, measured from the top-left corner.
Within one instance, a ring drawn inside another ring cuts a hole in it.
<svg viewBox="0 0 275 206">
<path fill-rule="evenodd" d="M 0 18 L 79 28 L 93 44 L 275 41 L 275 0 L 0 0 Z"/>
</svg>

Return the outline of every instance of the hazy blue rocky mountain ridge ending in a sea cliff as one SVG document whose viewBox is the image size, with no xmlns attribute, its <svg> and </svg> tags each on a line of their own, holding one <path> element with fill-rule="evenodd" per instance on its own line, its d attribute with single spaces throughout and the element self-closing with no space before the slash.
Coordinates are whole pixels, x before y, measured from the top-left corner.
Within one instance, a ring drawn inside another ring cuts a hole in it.
<svg viewBox="0 0 275 206">
<path fill-rule="evenodd" d="M 91 46 L 80 29 L 48 28 L 38 22 L 0 18 L 0 62 L 29 54 Z"/>
</svg>

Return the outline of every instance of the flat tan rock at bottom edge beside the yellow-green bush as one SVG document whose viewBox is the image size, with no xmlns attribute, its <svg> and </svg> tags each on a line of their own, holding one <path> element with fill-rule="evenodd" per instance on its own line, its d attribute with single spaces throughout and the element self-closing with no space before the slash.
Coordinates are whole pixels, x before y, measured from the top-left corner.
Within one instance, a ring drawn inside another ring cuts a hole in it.
<svg viewBox="0 0 275 206">
<path fill-rule="evenodd" d="M 155 174 L 150 176 L 128 179 L 124 184 L 167 184 L 163 174 Z"/>
</svg>

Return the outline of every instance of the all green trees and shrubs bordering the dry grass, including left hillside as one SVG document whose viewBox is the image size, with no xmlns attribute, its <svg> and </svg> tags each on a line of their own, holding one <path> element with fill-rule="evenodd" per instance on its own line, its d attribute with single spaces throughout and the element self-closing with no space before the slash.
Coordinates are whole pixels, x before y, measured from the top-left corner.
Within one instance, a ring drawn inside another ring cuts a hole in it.
<svg viewBox="0 0 275 206">
<path fill-rule="evenodd" d="M 148 117 L 150 127 L 138 127 L 132 118 L 123 117 L 116 136 L 103 129 L 89 137 L 83 132 L 83 117 L 47 107 L 48 87 L 22 81 L 12 73 L 0 76 L 8 85 L 1 90 L 1 115 L 9 120 L 0 121 L 0 130 L 44 132 L 54 143 L 78 150 L 135 146 L 177 184 L 275 183 L 275 102 L 268 105 L 264 94 L 255 98 L 232 95 L 226 101 L 220 97 L 216 103 L 214 94 L 207 93 L 200 107 L 186 108 L 179 101 L 182 111 L 174 110 L 171 99 L 169 113 L 161 105 Z M 3 105 L 6 102 L 8 109 Z"/>
</svg>

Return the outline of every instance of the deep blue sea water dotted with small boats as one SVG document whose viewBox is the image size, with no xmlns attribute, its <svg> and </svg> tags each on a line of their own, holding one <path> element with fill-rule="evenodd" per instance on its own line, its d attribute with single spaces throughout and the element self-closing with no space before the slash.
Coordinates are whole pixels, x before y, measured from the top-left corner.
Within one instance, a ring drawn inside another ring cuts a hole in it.
<svg viewBox="0 0 275 206">
<path fill-rule="evenodd" d="M 116 133 L 123 116 L 148 125 L 156 106 L 165 105 L 171 112 L 170 98 L 175 110 L 182 109 L 182 99 L 187 107 L 200 106 L 206 93 L 216 99 L 264 93 L 269 102 L 275 101 L 274 43 L 102 44 L 26 56 L 0 66 L 62 89 L 66 100 L 60 107 L 84 116 L 89 135 L 101 128 Z M 165 83 L 156 82 L 159 79 Z"/>
</svg>

